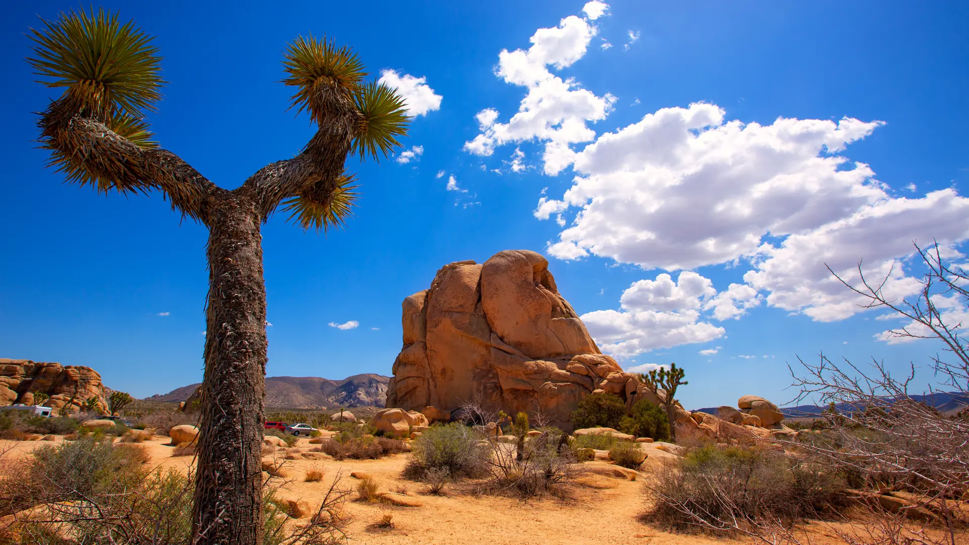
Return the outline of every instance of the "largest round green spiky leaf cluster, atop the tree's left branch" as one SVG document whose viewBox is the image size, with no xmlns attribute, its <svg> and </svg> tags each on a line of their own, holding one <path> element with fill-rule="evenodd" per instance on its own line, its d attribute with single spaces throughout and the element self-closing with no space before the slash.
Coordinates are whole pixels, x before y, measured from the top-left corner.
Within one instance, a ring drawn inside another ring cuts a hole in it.
<svg viewBox="0 0 969 545">
<path fill-rule="evenodd" d="M 45 29 L 31 29 L 35 56 L 27 58 L 39 81 L 66 87 L 59 100 L 68 111 L 96 118 L 135 144 L 153 146 L 143 114 L 155 109 L 165 81 L 151 38 L 104 9 L 42 20 Z"/>
</svg>

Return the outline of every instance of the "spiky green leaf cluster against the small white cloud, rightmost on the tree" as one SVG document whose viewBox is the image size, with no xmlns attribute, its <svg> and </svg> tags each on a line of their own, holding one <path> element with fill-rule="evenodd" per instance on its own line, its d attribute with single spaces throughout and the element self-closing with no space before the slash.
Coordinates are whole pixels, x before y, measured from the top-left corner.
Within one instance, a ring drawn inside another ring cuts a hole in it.
<svg viewBox="0 0 969 545">
<path fill-rule="evenodd" d="M 384 83 L 368 83 L 355 96 L 360 113 L 354 152 L 360 159 L 370 155 L 375 160 L 387 157 L 400 145 L 397 137 L 407 136 L 411 118 L 397 89 Z"/>
</svg>

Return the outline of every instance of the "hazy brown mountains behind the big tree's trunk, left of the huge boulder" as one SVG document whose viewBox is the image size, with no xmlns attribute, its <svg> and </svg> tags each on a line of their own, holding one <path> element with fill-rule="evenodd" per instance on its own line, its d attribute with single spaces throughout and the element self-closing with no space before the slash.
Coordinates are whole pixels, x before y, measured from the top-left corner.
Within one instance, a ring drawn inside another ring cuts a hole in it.
<svg viewBox="0 0 969 545">
<path fill-rule="evenodd" d="M 315 408 L 324 406 L 384 406 L 391 377 L 382 374 L 355 374 L 343 380 L 319 376 L 267 376 L 266 406 Z M 155 394 L 145 401 L 185 401 L 200 384 L 176 388 L 164 396 Z"/>
</svg>

